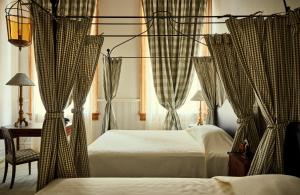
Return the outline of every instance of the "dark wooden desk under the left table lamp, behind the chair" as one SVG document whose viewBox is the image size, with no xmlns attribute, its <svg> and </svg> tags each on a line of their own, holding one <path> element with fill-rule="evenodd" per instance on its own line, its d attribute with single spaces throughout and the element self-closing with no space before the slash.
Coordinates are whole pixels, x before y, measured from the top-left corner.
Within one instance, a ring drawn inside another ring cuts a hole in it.
<svg viewBox="0 0 300 195">
<path fill-rule="evenodd" d="M 15 127 L 14 125 L 4 126 L 6 129 L 10 129 L 13 138 L 17 138 L 17 150 L 20 148 L 20 137 L 41 137 L 43 123 L 29 123 L 27 127 Z M 67 135 L 71 134 L 72 124 L 67 124 Z M 2 137 L 2 128 L 0 129 L 0 139 Z"/>
</svg>

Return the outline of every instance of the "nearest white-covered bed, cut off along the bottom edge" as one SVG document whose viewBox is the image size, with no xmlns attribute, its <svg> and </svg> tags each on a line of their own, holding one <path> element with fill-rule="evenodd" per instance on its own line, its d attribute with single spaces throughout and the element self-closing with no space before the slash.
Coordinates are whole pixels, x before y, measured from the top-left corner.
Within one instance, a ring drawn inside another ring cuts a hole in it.
<svg viewBox="0 0 300 195">
<path fill-rule="evenodd" d="M 57 179 L 37 195 L 299 195 L 300 179 L 286 175 L 203 178 Z"/>
</svg>

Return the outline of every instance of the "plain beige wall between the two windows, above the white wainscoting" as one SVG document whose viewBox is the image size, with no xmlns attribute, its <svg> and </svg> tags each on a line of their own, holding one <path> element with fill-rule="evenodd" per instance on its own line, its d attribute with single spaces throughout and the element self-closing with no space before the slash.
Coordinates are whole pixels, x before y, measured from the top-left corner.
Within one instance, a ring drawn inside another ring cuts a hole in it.
<svg viewBox="0 0 300 195">
<path fill-rule="evenodd" d="M 101 0 L 100 15 L 109 16 L 137 16 L 140 14 L 139 0 Z M 139 22 L 139 19 L 101 19 L 101 22 Z M 99 29 L 100 33 L 105 34 L 139 34 L 139 25 L 102 25 Z M 106 37 L 102 46 L 102 52 L 106 54 L 106 49 L 112 49 L 117 44 L 129 39 L 129 37 Z M 140 55 L 140 39 L 125 43 L 116 48 L 112 56 L 139 56 Z M 102 60 L 100 59 L 100 70 L 102 68 Z M 120 85 L 116 99 L 138 99 L 139 98 L 139 59 L 123 59 Z M 102 75 L 102 71 L 100 71 Z M 102 77 L 100 84 L 102 84 Z M 103 87 L 101 87 L 100 97 L 103 96 Z"/>
</svg>

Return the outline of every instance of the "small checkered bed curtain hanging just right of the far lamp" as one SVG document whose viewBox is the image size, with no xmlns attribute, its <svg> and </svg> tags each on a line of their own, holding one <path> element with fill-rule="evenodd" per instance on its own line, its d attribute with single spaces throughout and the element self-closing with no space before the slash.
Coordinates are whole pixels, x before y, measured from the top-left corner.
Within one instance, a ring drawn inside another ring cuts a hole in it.
<svg viewBox="0 0 300 195">
<path fill-rule="evenodd" d="M 216 70 L 211 57 L 194 58 L 194 67 L 202 88 L 203 97 L 208 107 L 207 124 L 216 124 Z"/>
</svg>

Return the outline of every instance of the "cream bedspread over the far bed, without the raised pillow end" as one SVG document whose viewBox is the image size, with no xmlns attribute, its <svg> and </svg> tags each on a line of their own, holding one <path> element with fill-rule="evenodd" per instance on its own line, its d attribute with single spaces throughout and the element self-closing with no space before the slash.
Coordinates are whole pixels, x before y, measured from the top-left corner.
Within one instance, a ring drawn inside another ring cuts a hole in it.
<svg viewBox="0 0 300 195">
<path fill-rule="evenodd" d="M 88 152 L 92 177 L 206 177 L 204 146 L 186 131 L 112 130 Z"/>
</svg>

